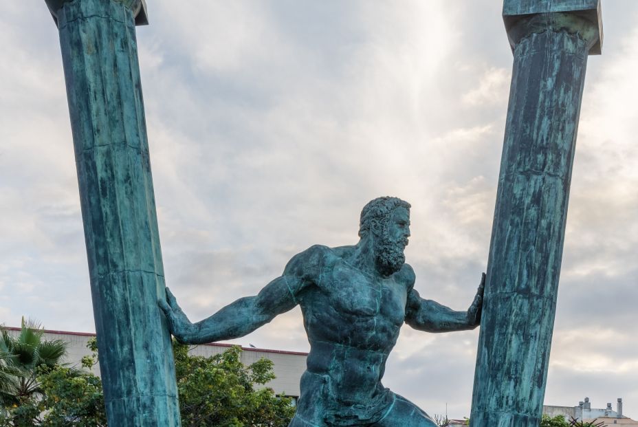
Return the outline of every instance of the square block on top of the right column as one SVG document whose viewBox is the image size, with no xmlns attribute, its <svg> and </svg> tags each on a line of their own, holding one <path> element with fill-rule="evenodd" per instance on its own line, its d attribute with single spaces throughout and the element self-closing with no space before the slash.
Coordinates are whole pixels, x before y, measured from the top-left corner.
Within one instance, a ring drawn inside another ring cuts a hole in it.
<svg viewBox="0 0 638 427">
<path fill-rule="evenodd" d="M 602 52 L 601 0 L 503 0 L 503 21 L 508 32 L 511 26 L 525 15 L 552 12 L 577 14 L 594 23 L 598 28 L 599 37 L 589 54 L 599 55 Z"/>
</svg>

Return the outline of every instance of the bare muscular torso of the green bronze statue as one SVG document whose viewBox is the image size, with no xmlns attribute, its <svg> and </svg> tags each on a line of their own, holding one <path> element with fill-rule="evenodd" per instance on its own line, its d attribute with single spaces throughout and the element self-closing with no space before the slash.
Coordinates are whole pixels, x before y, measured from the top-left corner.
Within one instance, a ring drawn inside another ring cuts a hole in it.
<svg viewBox="0 0 638 427">
<path fill-rule="evenodd" d="M 403 270 L 388 278 L 366 274 L 338 253 L 324 260 L 318 280 L 300 300 L 311 344 L 302 397 L 327 413 L 350 408 L 353 417 L 375 417 L 390 403 L 381 378 L 404 323 L 412 282 Z"/>
</svg>

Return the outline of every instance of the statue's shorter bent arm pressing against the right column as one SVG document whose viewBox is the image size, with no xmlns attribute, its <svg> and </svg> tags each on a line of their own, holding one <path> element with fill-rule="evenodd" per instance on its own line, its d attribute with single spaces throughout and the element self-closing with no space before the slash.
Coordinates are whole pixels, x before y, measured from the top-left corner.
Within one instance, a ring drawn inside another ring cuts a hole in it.
<svg viewBox="0 0 638 427">
<path fill-rule="evenodd" d="M 474 329 L 481 322 L 481 307 L 483 306 L 483 289 L 485 288 L 485 273 L 478 285 L 474 301 L 467 311 L 454 311 L 436 301 L 426 300 L 419 296 L 419 292 L 411 289 L 406 305 L 406 323 L 414 329 L 426 332 L 451 332 Z"/>
</svg>

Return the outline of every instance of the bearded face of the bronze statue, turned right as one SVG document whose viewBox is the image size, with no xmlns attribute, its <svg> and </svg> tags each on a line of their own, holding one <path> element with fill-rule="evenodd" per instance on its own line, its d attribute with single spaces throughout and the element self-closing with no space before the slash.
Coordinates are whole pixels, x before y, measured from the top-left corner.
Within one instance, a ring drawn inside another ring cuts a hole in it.
<svg viewBox="0 0 638 427">
<path fill-rule="evenodd" d="M 380 234 L 375 239 L 377 270 L 383 276 L 391 276 L 401 270 L 406 262 L 404 250 L 410 237 L 410 212 L 403 207 L 395 208 L 384 221 Z"/>
</svg>

